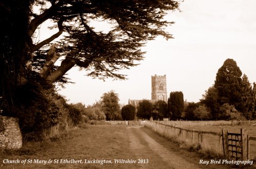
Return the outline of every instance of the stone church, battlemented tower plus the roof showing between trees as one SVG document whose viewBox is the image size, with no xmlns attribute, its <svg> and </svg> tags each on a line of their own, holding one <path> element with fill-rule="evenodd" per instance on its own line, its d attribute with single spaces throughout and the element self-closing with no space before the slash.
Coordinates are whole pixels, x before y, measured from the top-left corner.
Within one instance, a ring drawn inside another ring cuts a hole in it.
<svg viewBox="0 0 256 169">
<path fill-rule="evenodd" d="M 167 103 L 166 75 L 158 76 L 155 74 L 151 76 L 151 90 L 151 100 L 148 101 L 155 103 L 158 100 L 163 100 Z M 137 107 L 141 101 L 129 99 L 128 104 Z"/>
</svg>

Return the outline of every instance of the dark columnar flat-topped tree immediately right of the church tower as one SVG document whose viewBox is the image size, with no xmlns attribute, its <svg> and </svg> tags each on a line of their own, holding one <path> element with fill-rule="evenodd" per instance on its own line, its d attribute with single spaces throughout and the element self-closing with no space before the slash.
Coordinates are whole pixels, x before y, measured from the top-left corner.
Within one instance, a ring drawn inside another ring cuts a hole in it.
<svg viewBox="0 0 256 169">
<path fill-rule="evenodd" d="M 168 112 L 172 119 L 180 119 L 184 110 L 184 99 L 182 92 L 171 92 L 168 98 Z"/>
</svg>

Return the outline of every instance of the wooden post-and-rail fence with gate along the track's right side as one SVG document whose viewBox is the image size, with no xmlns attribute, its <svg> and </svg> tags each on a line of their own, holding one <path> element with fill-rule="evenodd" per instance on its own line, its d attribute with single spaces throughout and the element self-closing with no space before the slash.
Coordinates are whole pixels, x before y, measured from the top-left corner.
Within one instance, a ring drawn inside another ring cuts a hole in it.
<svg viewBox="0 0 256 169">
<path fill-rule="evenodd" d="M 224 130 L 224 133 L 229 134 L 230 136 L 233 135 L 235 137 L 233 138 L 231 136 L 231 138 L 229 138 L 229 135 L 224 134 L 223 131 L 220 133 L 194 129 L 190 130 L 177 127 L 176 125 L 170 125 L 170 123 L 166 122 L 146 121 L 144 125 L 167 138 L 176 137 L 177 139 L 185 142 L 188 146 L 198 144 L 200 145 L 202 151 L 210 150 L 216 154 L 229 156 L 231 158 L 240 158 L 243 160 L 249 160 L 253 157 L 250 154 L 250 152 L 252 152 L 250 150 L 254 150 L 254 148 L 251 149 L 250 146 L 254 146 L 254 144 L 251 144 L 250 141 L 255 141 L 256 137 L 249 136 L 247 132 L 242 132 L 242 129 L 241 133 L 228 133 L 226 130 Z M 181 124 L 179 125 L 181 126 Z M 243 139 L 243 143 L 238 145 L 238 143 L 241 142 L 241 139 Z M 256 155 L 255 152 L 253 153 L 253 155 Z M 236 154 L 236 156 L 234 154 Z"/>
</svg>

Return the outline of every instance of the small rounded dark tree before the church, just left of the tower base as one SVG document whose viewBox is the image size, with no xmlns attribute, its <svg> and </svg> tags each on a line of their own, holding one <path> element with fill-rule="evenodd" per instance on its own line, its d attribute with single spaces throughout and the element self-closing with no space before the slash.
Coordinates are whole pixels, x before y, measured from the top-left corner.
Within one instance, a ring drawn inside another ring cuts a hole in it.
<svg viewBox="0 0 256 169">
<path fill-rule="evenodd" d="M 150 120 L 153 115 L 152 111 L 153 104 L 150 101 L 143 99 L 141 102 L 139 102 L 137 107 L 137 117 Z"/>
</svg>

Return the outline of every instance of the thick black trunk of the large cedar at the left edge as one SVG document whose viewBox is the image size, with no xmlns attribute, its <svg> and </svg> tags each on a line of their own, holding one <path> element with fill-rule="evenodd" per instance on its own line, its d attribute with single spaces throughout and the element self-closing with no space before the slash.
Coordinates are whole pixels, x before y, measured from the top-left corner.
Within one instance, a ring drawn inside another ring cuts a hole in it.
<svg viewBox="0 0 256 169">
<path fill-rule="evenodd" d="M 28 26 L 33 0 L 0 2 L 0 97 L 3 105 L 15 102 L 17 85 L 24 82 L 27 51 L 31 43 Z M 1 106 L 1 105 L 0 105 Z"/>
</svg>

